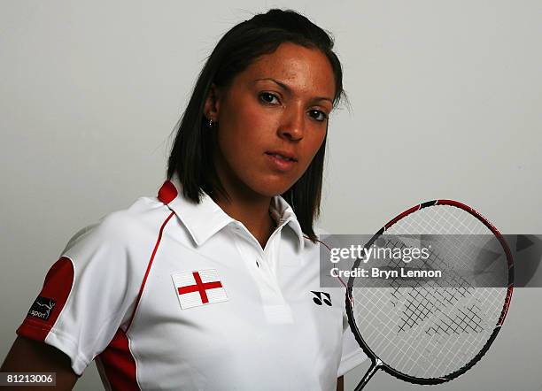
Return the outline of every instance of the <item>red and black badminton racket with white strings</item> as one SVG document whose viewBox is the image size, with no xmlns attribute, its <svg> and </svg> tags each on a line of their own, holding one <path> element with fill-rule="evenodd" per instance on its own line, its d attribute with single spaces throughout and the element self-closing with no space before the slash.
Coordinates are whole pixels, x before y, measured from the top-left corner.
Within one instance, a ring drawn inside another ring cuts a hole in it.
<svg viewBox="0 0 542 391">
<path fill-rule="evenodd" d="M 351 276 L 346 311 L 356 341 L 371 359 L 356 390 L 378 370 L 416 384 L 453 380 L 484 356 L 507 316 L 514 287 L 513 258 L 507 242 L 487 219 L 456 201 L 421 203 L 391 219 L 365 248 L 378 242 L 381 247 L 401 247 L 405 244 L 400 235 L 409 234 L 444 238 L 431 250 L 429 261 L 451 270 L 476 263 L 473 254 L 461 250 L 468 248 L 464 245 L 470 238 L 492 235 L 503 254 L 497 267 L 505 282 L 480 288 L 450 272 L 438 280 L 397 279 L 386 281 L 382 288 L 364 288 Z M 382 243 L 389 240 L 395 242 Z M 352 270 L 361 262 L 356 259 Z M 446 280 L 450 278 L 456 280 Z"/>
</svg>

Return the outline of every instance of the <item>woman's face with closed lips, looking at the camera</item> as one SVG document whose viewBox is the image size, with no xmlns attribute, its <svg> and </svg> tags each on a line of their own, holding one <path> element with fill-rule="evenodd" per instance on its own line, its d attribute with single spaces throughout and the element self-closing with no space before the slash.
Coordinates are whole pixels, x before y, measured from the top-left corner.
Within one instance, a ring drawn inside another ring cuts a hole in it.
<svg viewBox="0 0 542 391">
<path fill-rule="evenodd" d="M 326 135 L 335 78 L 319 50 L 285 42 L 205 105 L 218 121 L 214 165 L 228 191 L 275 196 L 305 173 Z"/>
</svg>

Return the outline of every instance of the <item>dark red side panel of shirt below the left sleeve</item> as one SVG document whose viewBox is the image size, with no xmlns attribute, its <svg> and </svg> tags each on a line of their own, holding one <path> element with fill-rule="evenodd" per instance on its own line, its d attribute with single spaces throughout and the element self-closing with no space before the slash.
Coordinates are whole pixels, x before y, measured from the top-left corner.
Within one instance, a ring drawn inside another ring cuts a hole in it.
<svg viewBox="0 0 542 391">
<path fill-rule="evenodd" d="M 105 376 L 112 389 L 140 389 L 136 378 L 136 359 L 132 356 L 128 337 L 122 329 L 117 330 L 107 348 L 97 358 L 104 367 Z"/>
</svg>

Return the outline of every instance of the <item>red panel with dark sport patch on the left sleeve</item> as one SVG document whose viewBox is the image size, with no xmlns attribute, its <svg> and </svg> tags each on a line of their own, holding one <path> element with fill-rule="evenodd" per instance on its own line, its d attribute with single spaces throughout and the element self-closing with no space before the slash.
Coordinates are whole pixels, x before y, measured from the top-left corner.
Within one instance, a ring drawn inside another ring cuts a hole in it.
<svg viewBox="0 0 542 391">
<path fill-rule="evenodd" d="M 69 258 L 61 257 L 47 272 L 42 291 L 17 329 L 17 334 L 44 341 L 66 305 L 73 285 L 74 265 Z"/>
</svg>

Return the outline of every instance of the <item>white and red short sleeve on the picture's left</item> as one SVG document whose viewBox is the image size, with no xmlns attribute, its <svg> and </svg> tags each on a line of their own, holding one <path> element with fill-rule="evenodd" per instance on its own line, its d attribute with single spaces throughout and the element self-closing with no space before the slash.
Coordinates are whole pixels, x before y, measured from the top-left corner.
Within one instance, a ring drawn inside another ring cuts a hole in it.
<svg viewBox="0 0 542 391">
<path fill-rule="evenodd" d="M 128 322 L 136 303 L 143 272 L 134 270 L 125 220 L 112 214 L 75 234 L 17 330 L 66 353 L 78 375 Z"/>
</svg>

